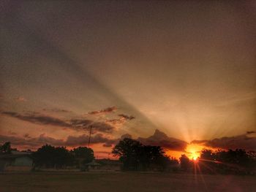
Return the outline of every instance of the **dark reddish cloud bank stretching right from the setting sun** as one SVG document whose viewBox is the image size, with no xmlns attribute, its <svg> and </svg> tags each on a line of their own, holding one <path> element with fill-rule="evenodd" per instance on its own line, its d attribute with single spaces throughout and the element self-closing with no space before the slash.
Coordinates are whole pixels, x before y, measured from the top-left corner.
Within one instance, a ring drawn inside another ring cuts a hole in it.
<svg viewBox="0 0 256 192">
<path fill-rule="evenodd" d="M 249 132 L 249 134 L 255 133 L 255 131 Z M 238 135 L 236 137 L 222 137 L 212 140 L 195 140 L 192 141 L 192 143 L 200 143 L 208 147 L 217 147 L 222 149 L 256 150 L 256 137 L 248 137 L 246 134 Z"/>
</svg>

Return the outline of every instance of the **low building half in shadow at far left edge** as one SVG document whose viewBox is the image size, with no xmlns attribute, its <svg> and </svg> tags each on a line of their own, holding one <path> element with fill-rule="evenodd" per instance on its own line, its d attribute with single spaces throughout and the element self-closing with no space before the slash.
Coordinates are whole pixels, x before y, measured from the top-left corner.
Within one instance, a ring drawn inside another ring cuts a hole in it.
<svg viewBox="0 0 256 192">
<path fill-rule="evenodd" d="M 33 168 L 29 153 L 10 153 L 0 155 L 0 172 L 27 172 Z"/>
</svg>

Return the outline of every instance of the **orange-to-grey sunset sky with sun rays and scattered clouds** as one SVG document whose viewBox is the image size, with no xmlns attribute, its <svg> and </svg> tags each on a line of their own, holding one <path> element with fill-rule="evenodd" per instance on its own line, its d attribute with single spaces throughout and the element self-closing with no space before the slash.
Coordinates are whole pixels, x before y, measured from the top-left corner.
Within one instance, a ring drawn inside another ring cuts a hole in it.
<svg viewBox="0 0 256 192">
<path fill-rule="evenodd" d="M 0 143 L 87 146 L 92 127 L 99 158 L 124 137 L 178 155 L 256 150 L 255 12 L 255 1 L 1 2 Z"/>
</svg>

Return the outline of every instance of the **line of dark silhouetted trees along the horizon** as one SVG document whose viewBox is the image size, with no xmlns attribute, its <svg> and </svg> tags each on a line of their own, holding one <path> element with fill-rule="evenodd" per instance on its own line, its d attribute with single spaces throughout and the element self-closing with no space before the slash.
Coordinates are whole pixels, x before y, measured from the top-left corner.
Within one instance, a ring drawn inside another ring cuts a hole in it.
<svg viewBox="0 0 256 192">
<path fill-rule="evenodd" d="M 10 142 L 0 145 L 0 154 L 11 153 Z M 221 174 L 255 174 L 256 152 L 246 150 L 202 150 L 196 161 L 187 155 L 179 160 L 170 158 L 159 146 L 143 145 L 135 139 L 124 138 L 113 147 L 112 153 L 123 164 L 124 171 L 182 171 Z M 75 166 L 82 169 L 94 160 L 94 151 L 89 147 L 66 147 L 43 145 L 31 153 L 34 167 L 62 169 Z"/>
</svg>

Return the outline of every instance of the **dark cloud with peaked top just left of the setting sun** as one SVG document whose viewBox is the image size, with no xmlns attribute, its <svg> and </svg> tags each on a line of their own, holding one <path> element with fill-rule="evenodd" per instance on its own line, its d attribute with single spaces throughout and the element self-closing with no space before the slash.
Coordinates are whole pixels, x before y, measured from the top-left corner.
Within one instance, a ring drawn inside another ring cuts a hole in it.
<svg viewBox="0 0 256 192">
<path fill-rule="evenodd" d="M 151 137 L 142 138 L 138 137 L 138 141 L 142 142 L 143 145 L 159 145 L 168 150 L 180 150 L 184 151 L 187 147 L 187 142 L 173 137 L 167 137 L 165 133 L 156 129 Z"/>
</svg>

